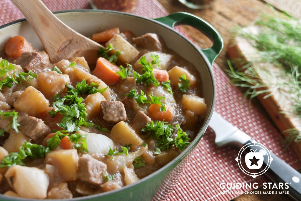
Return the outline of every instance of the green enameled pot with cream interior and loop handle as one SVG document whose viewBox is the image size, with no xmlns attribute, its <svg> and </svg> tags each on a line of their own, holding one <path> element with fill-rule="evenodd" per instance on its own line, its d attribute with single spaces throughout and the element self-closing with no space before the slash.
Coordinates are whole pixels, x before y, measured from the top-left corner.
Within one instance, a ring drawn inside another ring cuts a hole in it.
<svg viewBox="0 0 301 201">
<path fill-rule="evenodd" d="M 76 10 L 55 13 L 64 23 L 85 36 L 92 36 L 100 30 L 119 27 L 121 31 L 131 30 L 135 36 L 145 33 L 157 33 L 166 43 L 183 58 L 192 62 L 200 73 L 203 98 L 206 100 L 208 112 L 197 137 L 192 143 L 160 170 L 141 179 L 140 181 L 122 187 L 118 190 L 73 198 L 71 200 L 164 200 L 175 186 L 189 161 L 194 147 L 202 138 L 213 113 L 215 103 L 215 88 L 212 73 L 212 64 L 223 48 L 220 34 L 206 21 L 189 13 L 174 13 L 157 19 L 147 19 L 133 14 L 116 11 Z M 209 49 L 199 49 L 184 36 L 173 29 L 176 24 L 191 25 L 205 33 L 213 41 Z M 25 19 L 17 20 L 0 27 L 0 50 L 4 49 L 5 42 L 12 36 L 22 35 L 35 48 L 43 49 L 38 36 Z M 29 200 L 0 195 L 0 200 Z M 67 201 L 68 199 L 66 199 Z"/>
</svg>

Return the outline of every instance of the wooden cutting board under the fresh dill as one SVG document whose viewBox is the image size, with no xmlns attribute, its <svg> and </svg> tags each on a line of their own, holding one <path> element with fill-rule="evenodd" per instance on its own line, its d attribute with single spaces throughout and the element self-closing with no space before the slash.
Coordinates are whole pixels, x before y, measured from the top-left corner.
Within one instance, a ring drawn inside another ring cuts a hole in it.
<svg viewBox="0 0 301 201">
<path fill-rule="evenodd" d="M 259 28 L 256 26 L 250 26 L 247 27 L 247 30 L 254 33 L 258 32 Z M 246 64 L 246 62 L 252 60 L 251 55 L 258 55 L 257 50 L 247 41 L 247 39 L 238 36 L 233 36 L 231 38 L 228 43 L 227 51 L 231 62 L 234 64 L 235 68 L 239 69 L 239 71 L 244 71 L 242 67 Z M 272 64 L 259 63 L 257 66 L 257 69 L 269 69 L 268 73 L 257 71 L 258 77 L 266 84 L 266 86 L 262 87 L 260 90 L 271 90 L 273 87 L 270 86 L 275 85 L 275 75 L 277 76 L 281 74 L 281 70 Z M 252 66 L 248 68 L 252 68 Z M 277 79 L 277 82 L 287 83 L 287 77 L 285 76 L 281 78 L 278 77 Z M 256 97 L 286 140 L 292 141 L 293 138 L 287 131 L 289 129 L 296 129 L 300 131 L 301 118 L 297 117 L 292 112 L 289 112 L 293 110 L 291 95 L 288 93 L 285 94 L 284 90 L 281 92 L 275 90 L 272 93 L 259 94 Z M 290 142 L 290 146 L 301 159 L 301 141 L 292 141 Z"/>
</svg>

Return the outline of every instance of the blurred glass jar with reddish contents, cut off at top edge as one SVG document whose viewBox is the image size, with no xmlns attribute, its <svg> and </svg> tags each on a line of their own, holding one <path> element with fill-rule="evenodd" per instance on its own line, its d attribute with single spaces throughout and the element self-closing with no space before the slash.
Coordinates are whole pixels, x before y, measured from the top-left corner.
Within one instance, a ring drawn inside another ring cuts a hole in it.
<svg viewBox="0 0 301 201">
<path fill-rule="evenodd" d="M 135 10 L 138 0 L 90 0 L 89 2 L 93 9 L 131 13 Z"/>
</svg>

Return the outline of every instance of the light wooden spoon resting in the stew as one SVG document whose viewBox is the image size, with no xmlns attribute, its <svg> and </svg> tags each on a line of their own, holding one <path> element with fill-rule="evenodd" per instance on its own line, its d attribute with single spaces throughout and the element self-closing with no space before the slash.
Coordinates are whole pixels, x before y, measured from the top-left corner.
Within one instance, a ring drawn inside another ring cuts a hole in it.
<svg viewBox="0 0 301 201">
<path fill-rule="evenodd" d="M 52 63 L 75 56 L 85 57 L 88 64 L 95 64 L 97 42 L 77 33 L 59 20 L 40 0 L 11 0 L 26 17 L 39 36 Z"/>
</svg>

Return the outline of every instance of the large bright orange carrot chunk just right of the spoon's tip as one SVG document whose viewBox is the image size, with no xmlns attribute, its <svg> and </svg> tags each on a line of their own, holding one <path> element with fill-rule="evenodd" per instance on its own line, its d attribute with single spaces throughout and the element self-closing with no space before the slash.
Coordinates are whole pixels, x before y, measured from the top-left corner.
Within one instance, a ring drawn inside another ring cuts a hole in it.
<svg viewBox="0 0 301 201">
<path fill-rule="evenodd" d="M 120 71 L 119 66 L 111 63 L 105 58 L 99 57 L 96 61 L 96 67 L 92 75 L 95 75 L 107 85 L 113 85 L 120 79 L 120 76 L 116 73 L 117 71 Z"/>
</svg>

